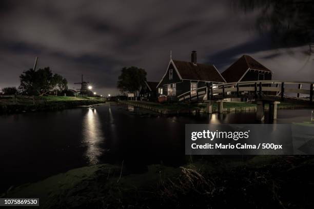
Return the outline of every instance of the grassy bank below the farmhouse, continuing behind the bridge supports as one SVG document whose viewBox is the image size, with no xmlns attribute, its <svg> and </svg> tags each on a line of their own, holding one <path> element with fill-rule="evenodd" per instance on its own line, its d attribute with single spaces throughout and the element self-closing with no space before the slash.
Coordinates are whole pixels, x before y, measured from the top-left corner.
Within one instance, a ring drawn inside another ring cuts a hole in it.
<svg viewBox="0 0 314 209">
<path fill-rule="evenodd" d="M 184 113 L 202 113 L 206 112 L 206 103 L 158 103 L 150 101 L 119 101 L 123 105 L 130 105 L 139 107 L 154 112 L 158 112 L 164 115 L 171 114 L 184 114 Z M 265 109 L 269 107 L 265 104 Z M 295 105 L 290 103 L 279 103 L 278 109 L 300 109 L 305 108 L 301 105 Z M 256 111 L 256 104 L 246 102 L 224 102 L 223 112 L 241 112 L 241 111 Z M 218 112 L 217 103 L 213 103 L 212 112 Z"/>
</svg>

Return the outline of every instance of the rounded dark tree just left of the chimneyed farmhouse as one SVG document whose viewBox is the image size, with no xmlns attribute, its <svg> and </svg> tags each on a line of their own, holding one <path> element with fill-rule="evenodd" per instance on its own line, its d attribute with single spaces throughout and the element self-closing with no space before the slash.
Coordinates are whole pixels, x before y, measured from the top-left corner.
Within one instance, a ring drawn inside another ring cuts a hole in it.
<svg viewBox="0 0 314 209">
<path fill-rule="evenodd" d="M 118 77 L 117 88 L 123 92 L 132 92 L 136 96 L 141 86 L 145 85 L 146 71 L 137 67 L 124 67 Z"/>
</svg>

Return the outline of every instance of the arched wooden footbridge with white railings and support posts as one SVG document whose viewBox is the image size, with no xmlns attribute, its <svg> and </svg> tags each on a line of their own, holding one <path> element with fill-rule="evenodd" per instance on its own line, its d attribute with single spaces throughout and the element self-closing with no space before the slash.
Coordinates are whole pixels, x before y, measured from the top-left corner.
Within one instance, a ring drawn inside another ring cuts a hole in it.
<svg viewBox="0 0 314 209">
<path fill-rule="evenodd" d="M 264 119 L 264 105 L 269 103 L 269 113 L 277 118 L 277 104 L 280 102 L 314 107 L 314 82 L 260 80 L 221 83 L 185 92 L 178 96 L 181 102 L 207 102 L 208 113 L 211 113 L 212 103 L 218 102 L 218 112 L 222 112 L 223 101 L 226 98 L 246 98 L 257 103 L 257 119 Z"/>
</svg>

